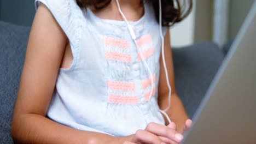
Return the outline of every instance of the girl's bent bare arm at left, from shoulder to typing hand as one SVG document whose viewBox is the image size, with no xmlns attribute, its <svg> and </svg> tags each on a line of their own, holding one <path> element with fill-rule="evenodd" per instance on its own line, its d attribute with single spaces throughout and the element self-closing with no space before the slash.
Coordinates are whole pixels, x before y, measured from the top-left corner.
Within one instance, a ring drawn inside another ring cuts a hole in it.
<svg viewBox="0 0 256 144">
<path fill-rule="evenodd" d="M 171 125 L 166 127 L 151 123 L 146 130 L 138 130 L 134 135 L 115 137 L 73 129 L 46 118 L 67 45 L 65 33 L 48 8 L 40 4 L 28 40 L 11 123 L 11 136 L 15 142 L 63 144 L 181 141 L 175 137 L 177 134 Z"/>
</svg>

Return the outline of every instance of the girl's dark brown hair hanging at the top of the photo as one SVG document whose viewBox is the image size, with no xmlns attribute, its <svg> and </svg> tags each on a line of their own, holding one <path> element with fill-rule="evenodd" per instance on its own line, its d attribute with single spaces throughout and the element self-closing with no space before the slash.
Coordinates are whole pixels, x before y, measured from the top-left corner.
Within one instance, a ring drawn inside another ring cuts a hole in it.
<svg viewBox="0 0 256 144">
<path fill-rule="evenodd" d="M 79 7 L 94 6 L 95 9 L 106 7 L 112 0 L 76 0 Z M 193 0 L 161 0 L 162 26 L 172 26 L 187 17 L 193 7 Z M 159 0 L 146 0 L 152 2 L 155 10 L 156 20 L 159 22 Z M 141 0 L 143 4 L 143 0 Z M 188 4 L 188 5 L 187 5 Z"/>
</svg>

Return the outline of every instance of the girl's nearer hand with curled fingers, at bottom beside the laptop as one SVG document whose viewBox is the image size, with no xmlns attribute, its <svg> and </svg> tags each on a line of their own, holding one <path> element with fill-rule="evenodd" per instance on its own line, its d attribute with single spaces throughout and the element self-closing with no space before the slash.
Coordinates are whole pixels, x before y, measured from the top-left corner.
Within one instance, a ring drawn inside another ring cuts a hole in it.
<svg viewBox="0 0 256 144">
<path fill-rule="evenodd" d="M 161 125 L 157 123 L 149 123 L 145 130 L 137 130 L 133 135 L 130 143 L 179 143 L 183 139 L 183 135 L 176 131 L 176 125 L 172 122 L 169 125 Z"/>
</svg>

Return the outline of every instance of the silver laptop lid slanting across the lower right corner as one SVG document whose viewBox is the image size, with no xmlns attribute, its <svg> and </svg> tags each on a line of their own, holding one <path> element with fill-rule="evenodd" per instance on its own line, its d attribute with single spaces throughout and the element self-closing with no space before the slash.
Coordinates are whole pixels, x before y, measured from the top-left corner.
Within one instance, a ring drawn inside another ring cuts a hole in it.
<svg viewBox="0 0 256 144">
<path fill-rule="evenodd" d="M 256 143 L 256 1 L 183 144 Z"/>
</svg>

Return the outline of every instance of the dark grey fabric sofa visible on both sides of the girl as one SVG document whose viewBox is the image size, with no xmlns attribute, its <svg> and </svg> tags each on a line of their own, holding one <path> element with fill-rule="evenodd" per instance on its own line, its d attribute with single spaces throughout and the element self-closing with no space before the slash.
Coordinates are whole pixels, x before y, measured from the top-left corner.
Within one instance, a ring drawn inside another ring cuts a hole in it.
<svg viewBox="0 0 256 144">
<path fill-rule="evenodd" d="M 0 21 L 0 143 L 13 143 L 10 123 L 24 63 L 30 27 Z M 224 58 L 211 42 L 173 49 L 176 87 L 193 117 Z"/>
</svg>

